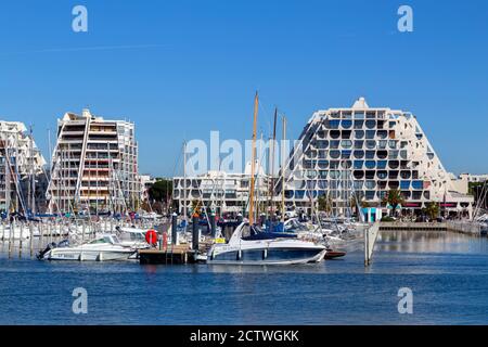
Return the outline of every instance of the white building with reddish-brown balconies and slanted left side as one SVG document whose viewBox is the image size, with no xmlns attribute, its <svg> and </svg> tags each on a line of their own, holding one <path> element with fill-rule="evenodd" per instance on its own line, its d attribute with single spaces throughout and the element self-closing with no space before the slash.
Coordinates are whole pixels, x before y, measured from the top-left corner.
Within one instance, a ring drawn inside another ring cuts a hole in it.
<svg viewBox="0 0 488 347">
<path fill-rule="evenodd" d="M 134 124 L 89 110 L 57 120 L 48 187 L 52 213 L 137 210 L 141 200 Z"/>
</svg>

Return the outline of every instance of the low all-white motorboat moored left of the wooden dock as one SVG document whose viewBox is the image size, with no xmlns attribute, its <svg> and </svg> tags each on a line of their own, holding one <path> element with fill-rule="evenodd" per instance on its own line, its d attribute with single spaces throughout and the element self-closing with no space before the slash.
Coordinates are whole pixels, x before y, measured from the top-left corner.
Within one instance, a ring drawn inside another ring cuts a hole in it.
<svg viewBox="0 0 488 347">
<path fill-rule="evenodd" d="M 38 255 L 41 260 L 106 261 L 127 260 L 136 248 L 124 246 L 116 235 L 105 234 L 81 245 L 70 246 L 67 240 L 51 244 Z"/>
</svg>

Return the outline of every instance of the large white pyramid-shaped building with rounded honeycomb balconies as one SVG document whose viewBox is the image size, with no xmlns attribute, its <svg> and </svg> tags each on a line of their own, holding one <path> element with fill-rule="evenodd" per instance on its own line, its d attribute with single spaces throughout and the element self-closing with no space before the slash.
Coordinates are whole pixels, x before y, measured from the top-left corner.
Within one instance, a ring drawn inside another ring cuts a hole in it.
<svg viewBox="0 0 488 347">
<path fill-rule="evenodd" d="M 355 204 L 386 213 L 389 190 L 399 190 L 402 208 L 412 211 L 429 202 L 454 211 L 468 211 L 473 204 L 411 113 L 370 107 L 363 98 L 352 107 L 316 112 L 284 169 L 284 190 L 280 185 L 277 195 L 284 191 L 288 208 L 310 211 L 325 195 L 337 215 Z"/>
</svg>

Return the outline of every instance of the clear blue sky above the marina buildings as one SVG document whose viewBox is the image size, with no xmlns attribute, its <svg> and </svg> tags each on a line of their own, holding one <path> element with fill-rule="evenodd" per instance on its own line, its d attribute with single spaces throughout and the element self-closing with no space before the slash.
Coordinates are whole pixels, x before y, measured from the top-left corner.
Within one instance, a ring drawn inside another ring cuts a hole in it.
<svg viewBox="0 0 488 347">
<path fill-rule="evenodd" d="M 72 30 L 77 4 L 88 33 Z M 0 119 L 33 124 L 46 156 L 56 118 L 90 106 L 136 121 L 140 170 L 172 176 L 183 139 L 251 138 L 256 90 L 266 132 L 274 106 L 296 138 L 363 95 L 415 114 L 448 170 L 488 172 L 488 2 L 0 3 Z"/>
</svg>

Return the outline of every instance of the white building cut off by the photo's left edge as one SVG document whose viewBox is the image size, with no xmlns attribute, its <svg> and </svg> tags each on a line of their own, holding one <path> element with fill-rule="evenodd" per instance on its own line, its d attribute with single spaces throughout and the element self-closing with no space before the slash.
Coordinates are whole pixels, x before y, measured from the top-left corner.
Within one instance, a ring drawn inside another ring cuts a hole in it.
<svg viewBox="0 0 488 347">
<path fill-rule="evenodd" d="M 0 120 L 0 210 L 4 213 L 46 209 L 46 160 L 27 127 Z"/>
</svg>

